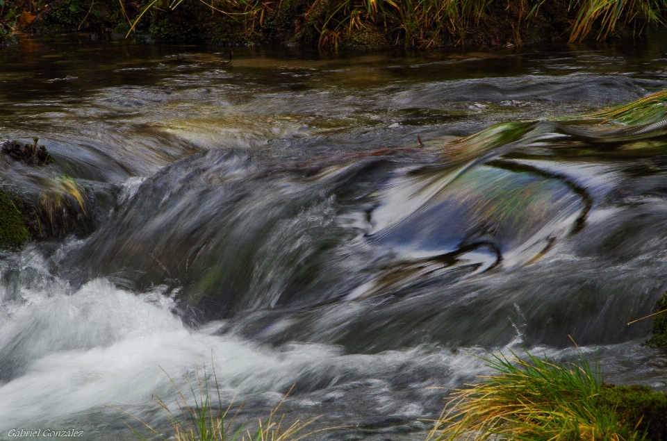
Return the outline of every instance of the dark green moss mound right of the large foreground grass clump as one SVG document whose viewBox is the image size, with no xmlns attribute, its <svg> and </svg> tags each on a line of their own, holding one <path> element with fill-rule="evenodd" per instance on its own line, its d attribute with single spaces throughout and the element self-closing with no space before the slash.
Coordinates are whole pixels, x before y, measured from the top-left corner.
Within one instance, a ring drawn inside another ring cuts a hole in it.
<svg viewBox="0 0 667 441">
<path fill-rule="evenodd" d="M 645 386 L 604 385 L 598 406 L 616 409 L 616 417 L 630 428 L 646 433 L 646 439 L 667 439 L 667 394 Z"/>
</svg>

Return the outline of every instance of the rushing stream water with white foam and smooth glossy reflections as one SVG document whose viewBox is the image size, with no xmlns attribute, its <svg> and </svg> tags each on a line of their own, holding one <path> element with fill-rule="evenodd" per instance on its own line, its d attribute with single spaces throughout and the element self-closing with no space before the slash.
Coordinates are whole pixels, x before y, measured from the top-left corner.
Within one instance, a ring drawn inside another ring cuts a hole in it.
<svg viewBox="0 0 667 441">
<path fill-rule="evenodd" d="M 423 439 L 488 351 L 568 360 L 574 340 L 607 381 L 667 389 L 667 359 L 639 345 L 650 320 L 626 325 L 667 289 L 664 130 L 455 142 L 667 88 L 664 35 L 230 49 L 0 50 L 0 142 L 38 136 L 56 160 L 1 155 L 0 184 L 35 196 L 67 175 L 85 199 L 76 234 L 1 254 L 1 439 L 136 439 L 117 408 L 163 428 L 152 397 L 173 403 L 170 378 L 188 390 L 204 365 L 239 420 L 295 385 L 287 418 L 347 426 L 333 440 Z"/>
</svg>

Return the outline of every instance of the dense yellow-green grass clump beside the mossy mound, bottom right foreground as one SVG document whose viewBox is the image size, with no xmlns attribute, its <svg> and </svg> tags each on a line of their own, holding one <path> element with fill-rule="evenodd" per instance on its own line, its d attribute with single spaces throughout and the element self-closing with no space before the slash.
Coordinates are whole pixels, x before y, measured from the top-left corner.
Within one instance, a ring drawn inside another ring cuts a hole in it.
<svg viewBox="0 0 667 441">
<path fill-rule="evenodd" d="M 452 394 L 431 438 L 441 440 L 643 440 L 614 408 L 599 406 L 600 366 L 566 366 L 528 354 L 486 360 L 499 374 Z"/>
</svg>

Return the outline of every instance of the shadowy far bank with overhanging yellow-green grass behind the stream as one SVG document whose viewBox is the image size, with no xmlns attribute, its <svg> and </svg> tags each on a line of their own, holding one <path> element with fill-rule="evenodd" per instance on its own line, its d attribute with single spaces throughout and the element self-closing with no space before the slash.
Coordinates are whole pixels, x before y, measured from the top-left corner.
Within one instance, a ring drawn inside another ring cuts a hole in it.
<svg viewBox="0 0 667 441">
<path fill-rule="evenodd" d="M 338 47 L 500 47 L 639 35 L 667 0 L 0 0 L 15 31 Z"/>
</svg>

